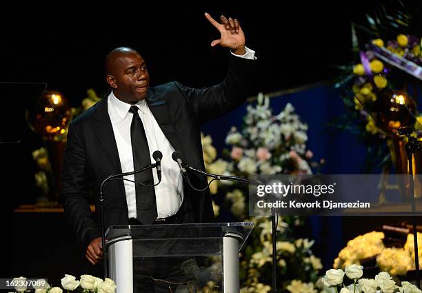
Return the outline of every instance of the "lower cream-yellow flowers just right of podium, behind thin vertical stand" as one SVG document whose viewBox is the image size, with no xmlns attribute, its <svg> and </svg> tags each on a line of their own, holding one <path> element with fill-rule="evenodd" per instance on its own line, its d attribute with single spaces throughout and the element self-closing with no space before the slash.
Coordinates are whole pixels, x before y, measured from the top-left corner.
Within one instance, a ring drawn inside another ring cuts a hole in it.
<svg viewBox="0 0 422 293">
<path fill-rule="evenodd" d="M 241 292 L 270 292 L 272 282 L 272 228 L 271 221 L 259 217 L 255 223 L 250 243 L 241 254 Z M 280 292 L 315 292 L 314 283 L 319 279 L 323 265 L 314 256 L 314 241 L 296 238 L 294 230 L 303 225 L 299 217 L 279 216 L 277 225 L 277 280 Z"/>
</svg>

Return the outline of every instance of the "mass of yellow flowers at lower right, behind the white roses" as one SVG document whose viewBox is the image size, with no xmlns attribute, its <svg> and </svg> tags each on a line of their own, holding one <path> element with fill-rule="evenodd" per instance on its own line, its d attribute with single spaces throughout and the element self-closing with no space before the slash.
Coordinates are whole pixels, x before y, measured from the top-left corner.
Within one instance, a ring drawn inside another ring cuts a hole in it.
<svg viewBox="0 0 422 293">
<path fill-rule="evenodd" d="M 361 260 L 375 257 L 379 270 L 388 272 L 392 276 L 403 276 L 408 271 L 415 270 L 413 234 L 408 234 L 403 247 L 385 247 L 383 239 L 383 232 L 369 232 L 348 241 L 348 245 L 339 252 L 339 256 L 334 260 L 334 269 L 352 264 L 361 265 Z M 419 232 L 418 241 L 422 241 L 422 234 Z M 419 251 L 421 249 L 422 244 L 419 245 Z M 422 253 L 419 254 L 422 256 Z M 420 261 L 420 265 L 422 265 L 422 261 Z"/>
</svg>

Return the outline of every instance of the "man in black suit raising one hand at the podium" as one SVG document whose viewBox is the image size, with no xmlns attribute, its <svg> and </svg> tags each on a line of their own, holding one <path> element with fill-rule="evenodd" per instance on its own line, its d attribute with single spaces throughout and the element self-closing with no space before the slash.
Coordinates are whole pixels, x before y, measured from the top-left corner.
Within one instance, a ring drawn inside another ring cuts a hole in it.
<svg viewBox="0 0 422 293">
<path fill-rule="evenodd" d="M 93 189 L 97 205 L 101 182 L 107 176 L 139 167 L 134 159 L 139 146 L 133 145 L 131 132 L 135 122 L 145 130 L 143 150 L 149 150 L 150 155 L 154 150 L 163 153 L 162 181 L 155 188 L 143 189 L 152 194 L 154 206 L 146 208 L 152 212 L 145 212 L 149 218 L 143 217 L 145 209 L 139 206 L 143 197 L 139 197 L 138 185 L 111 181 L 104 201 L 106 228 L 131 221 L 201 223 L 214 219 L 210 192 L 197 192 L 185 185 L 179 166 L 170 157 L 177 150 L 183 154 L 185 163 L 204 168 L 199 125 L 243 103 L 250 92 L 256 58 L 254 51 L 245 47 L 245 36 L 237 19 L 221 16 L 218 23 L 209 14 L 205 13 L 205 17 L 221 33 L 221 39 L 212 41 L 211 46 L 219 44 L 231 50 L 228 74 L 221 83 L 203 89 L 188 88 L 178 82 L 150 88 L 141 55 L 131 48 L 117 48 L 106 57 L 106 79 L 112 89 L 108 98 L 70 123 L 61 201 L 87 259 L 93 264 L 101 259 L 102 248 L 99 221 L 88 205 L 88 188 Z M 147 156 L 140 164 L 149 163 Z M 152 183 L 153 179 L 157 183 L 155 173 L 145 174 L 151 179 L 144 178 L 145 182 Z M 190 181 L 200 187 L 207 183 L 205 176 L 197 174 L 190 174 Z"/>
</svg>

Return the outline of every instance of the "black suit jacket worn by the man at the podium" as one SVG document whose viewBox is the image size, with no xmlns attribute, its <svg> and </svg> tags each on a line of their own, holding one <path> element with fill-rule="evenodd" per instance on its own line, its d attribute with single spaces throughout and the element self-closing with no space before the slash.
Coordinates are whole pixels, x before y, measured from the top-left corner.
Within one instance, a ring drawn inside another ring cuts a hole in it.
<svg viewBox="0 0 422 293">
<path fill-rule="evenodd" d="M 218 85 L 203 89 L 187 88 L 171 82 L 148 89 L 148 107 L 174 150 L 183 161 L 204 169 L 199 125 L 237 107 L 250 92 L 257 61 L 230 54 L 228 74 Z M 92 239 L 101 236 L 99 219 L 88 205 L 88 190 L 92 188 L 96 206 L 101 182 L 110 174 L 121 173 L 121 164 L 107 99 L 102 99 L 69 126 L 63 165 L 61 203 L 66 218 L 77 234 L 83 251 Z M 170 159 L 170 158 L 165 158 Z M 190 174 L 194 186 L 204 186 L 205 176 Z M 214 219 L 209 190 L 197 192 L 183 186 L 181 212 L 183 223 L 210 222 Z M 104 194 L 106 228 L 128 224 L 123 181 L 110 181 Z"/>
</svg>

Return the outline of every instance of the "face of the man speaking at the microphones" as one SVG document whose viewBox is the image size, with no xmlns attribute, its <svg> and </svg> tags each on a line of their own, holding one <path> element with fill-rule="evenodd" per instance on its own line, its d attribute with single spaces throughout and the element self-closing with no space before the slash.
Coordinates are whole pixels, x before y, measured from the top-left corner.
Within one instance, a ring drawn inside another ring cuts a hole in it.
<svg viewBox="0 0 422 293">
<path fill-rule="evenodd" d="M 119 100 L 134 104 L 146 99 L 150 75 L 141 55 L 133 52 L 116 57 L 112 74 L 107 75 L 107 81 Z"/>
</svg>

